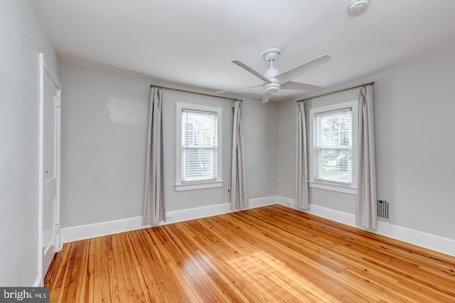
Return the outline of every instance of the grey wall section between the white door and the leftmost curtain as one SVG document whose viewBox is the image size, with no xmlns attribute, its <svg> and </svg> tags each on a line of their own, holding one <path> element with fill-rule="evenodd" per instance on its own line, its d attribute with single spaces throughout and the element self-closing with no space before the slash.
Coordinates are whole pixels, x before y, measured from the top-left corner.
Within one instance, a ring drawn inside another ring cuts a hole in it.
<svg viewBox="0 0 455 303">
<path fill-rule="evenodd" d="M 137 216 L 149 80 L 62 70 L 62 227 Z"/>
</svg>

